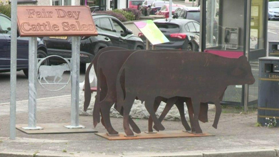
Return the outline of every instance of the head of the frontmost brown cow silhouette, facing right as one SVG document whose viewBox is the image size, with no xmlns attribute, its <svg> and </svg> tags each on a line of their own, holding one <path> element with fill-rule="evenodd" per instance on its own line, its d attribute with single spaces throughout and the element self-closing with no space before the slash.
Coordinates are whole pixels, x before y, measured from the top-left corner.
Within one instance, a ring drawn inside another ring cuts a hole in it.
<svg viewBox="0 0 279 157">
<path fill-rule="evenodd" d="M 245 56 L 235 59 L 233 65 L 228 69 L 228 75 L 229 85 L 251 85 L 255 82 L 251 65 Z"/>
</svg>

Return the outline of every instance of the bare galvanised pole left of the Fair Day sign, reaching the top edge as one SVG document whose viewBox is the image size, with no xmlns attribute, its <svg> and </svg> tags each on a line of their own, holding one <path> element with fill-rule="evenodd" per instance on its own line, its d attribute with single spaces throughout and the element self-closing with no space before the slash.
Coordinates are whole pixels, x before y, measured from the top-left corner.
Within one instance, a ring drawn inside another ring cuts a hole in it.
<svg viewBox="0 0 279 157">
<path fill-rule="evenodd" d="M 17 102 L 17 0 L 11 0 L 10 139 L 15 140 Z"/>
</svg>

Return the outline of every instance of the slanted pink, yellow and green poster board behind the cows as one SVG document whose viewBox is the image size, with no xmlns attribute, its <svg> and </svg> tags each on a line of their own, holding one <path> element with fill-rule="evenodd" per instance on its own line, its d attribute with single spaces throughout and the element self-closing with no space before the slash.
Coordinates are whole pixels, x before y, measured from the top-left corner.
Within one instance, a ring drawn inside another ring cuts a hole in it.
<svg viewBox="0 0 279 157">
<path fill-rule="evenodd" d="M 138 21 L 134 23 L 152 45 L 170 42 L 152 20 Z"/>
</svg>

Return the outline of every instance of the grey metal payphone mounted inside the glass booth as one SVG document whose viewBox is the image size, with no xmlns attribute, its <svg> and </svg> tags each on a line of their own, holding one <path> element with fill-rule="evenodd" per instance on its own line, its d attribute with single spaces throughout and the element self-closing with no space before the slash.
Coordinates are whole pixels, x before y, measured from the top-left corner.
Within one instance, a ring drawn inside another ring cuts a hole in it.
<svg viewBox="0 0 279 157">
<path fill-rule="evenodd" d="M 225 38 L 226 49 L 238 49 L 239 45 L 239 32 L 240 29 L 237 27 L 225 27 Z"/>
</svg>

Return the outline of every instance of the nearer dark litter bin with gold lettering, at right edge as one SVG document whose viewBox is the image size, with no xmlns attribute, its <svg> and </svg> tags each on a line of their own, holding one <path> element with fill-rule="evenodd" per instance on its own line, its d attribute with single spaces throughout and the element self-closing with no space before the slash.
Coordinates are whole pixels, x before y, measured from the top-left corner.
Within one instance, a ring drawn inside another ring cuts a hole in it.
<svg viewBox="0 0 279 157">
<path fill-rule="evenodd" d="M 265 126 L 266 118 L 279 120 L 279 57 L 259 58 L 259 65 L 258 122 Z"/>
</svg>

